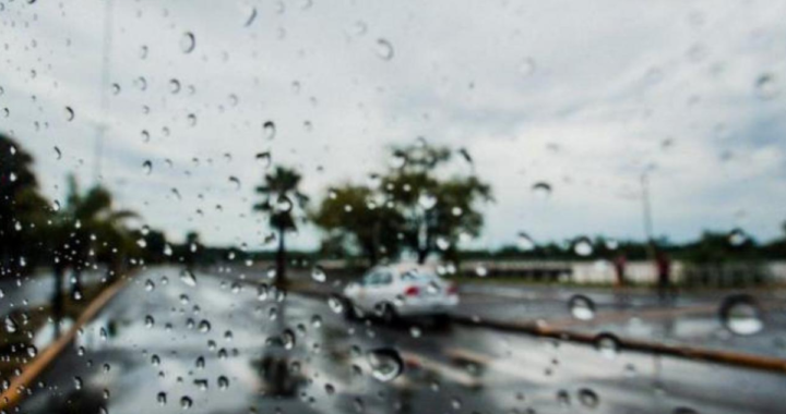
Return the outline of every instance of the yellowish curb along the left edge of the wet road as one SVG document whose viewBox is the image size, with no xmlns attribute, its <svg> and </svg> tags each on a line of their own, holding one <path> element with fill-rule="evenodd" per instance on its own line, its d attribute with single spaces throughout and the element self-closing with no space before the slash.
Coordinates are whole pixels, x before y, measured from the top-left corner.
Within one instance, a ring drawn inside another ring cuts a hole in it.
<svg viewBox="0 0 786 414">
<path fill-rule="evenodd" d="M 16 376 L 5 391 L 0 394 L 0 412 L 9 412 L 16 404 L 19 404 L 25 397 L 28 395 L 25 390 L 29 389 L 29 383 L 35 380 L 40 373 L 51 364 L 52 361 L 66 349 L 66 346 L 73 341 L 76 337 L 76 332 L 91 319 L 93 319 L 98 312 L 106 306 L 115 295 L 120 292 L 126 282 L 130 279 L 120 279 L 112 284 L 109 284 L 93 302 L 87 305 L 87 308 L 80 315 L 76 321 L 60 336 L 55 342 L 49 344 L 44 351 L 22 367 L 22 374 Z"/>
</svg>

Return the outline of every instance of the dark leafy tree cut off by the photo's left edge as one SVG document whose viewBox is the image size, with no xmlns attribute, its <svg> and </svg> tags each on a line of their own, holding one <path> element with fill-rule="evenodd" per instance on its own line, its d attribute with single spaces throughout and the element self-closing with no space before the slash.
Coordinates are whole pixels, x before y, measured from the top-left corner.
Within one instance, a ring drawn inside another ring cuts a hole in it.
<svg viewBox="0 0 786 414">
<path fill-rule="evenodd" d="M 0 134 L 0 276 L 29 271 L 41 258 L 38 229 L 48 205 L 32 167 L 33 156 Z"/>
</svg>

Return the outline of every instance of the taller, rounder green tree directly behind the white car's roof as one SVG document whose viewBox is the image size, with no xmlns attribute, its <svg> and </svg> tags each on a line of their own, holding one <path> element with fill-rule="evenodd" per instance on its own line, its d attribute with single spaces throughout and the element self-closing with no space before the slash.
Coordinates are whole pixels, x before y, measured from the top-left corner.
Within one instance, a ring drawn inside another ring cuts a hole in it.
<svg viewBox="0 0 786 414">
<path fill-rule="evenodd" d="M 466 150 L 461 153 L 469 161 Z M 405 218 L 402 240 L 425 263 L 432 253 L 456 259 L 461 238 L 476 238 L 484 219 L 479 204 L 492 200 L 491 187 L 474 173 L 444 176 L 453 153 L 425 142 L 393 148 L 395 165 L 382 179 L 382 188 Z"/>
</svg>

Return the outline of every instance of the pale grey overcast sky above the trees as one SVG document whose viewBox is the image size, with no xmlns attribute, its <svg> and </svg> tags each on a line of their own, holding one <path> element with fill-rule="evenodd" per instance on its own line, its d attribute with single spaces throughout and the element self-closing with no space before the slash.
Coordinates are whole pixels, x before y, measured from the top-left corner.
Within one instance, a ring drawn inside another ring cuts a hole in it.
<svg viewBox="0 0 786 414">
<path fill-rule="evenodd" d="M 786 220 L 784 1 L 105 5 L 0 0 L 0 131 L 56 200 L 68 173 L 94 182 L 103 130 L 99 181 L 176 241 L 270 247 L 257 154 L 300 169 L 318 203 L 418 137 L 466 148 L 492 186 L 468 246 L 642 240 L 645 171 L 656 235 L 770 240 Z"/>
</svg>

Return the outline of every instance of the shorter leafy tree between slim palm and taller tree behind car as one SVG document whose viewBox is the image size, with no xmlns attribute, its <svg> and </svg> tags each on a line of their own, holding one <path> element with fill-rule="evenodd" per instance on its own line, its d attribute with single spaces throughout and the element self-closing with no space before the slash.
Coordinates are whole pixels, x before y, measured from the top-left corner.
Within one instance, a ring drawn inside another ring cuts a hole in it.
<svg viewBox="0 0 786 414">
<path fill-rule="evenodd" d="M 311 220 L 327 233 L 323 247 L 360 253 L 371 264 L 381 257 L 395 257 L 401 249 L 404 217 L 379 198 L 362 185 L 332 188 L 311 214 Z"/>
</svg>

